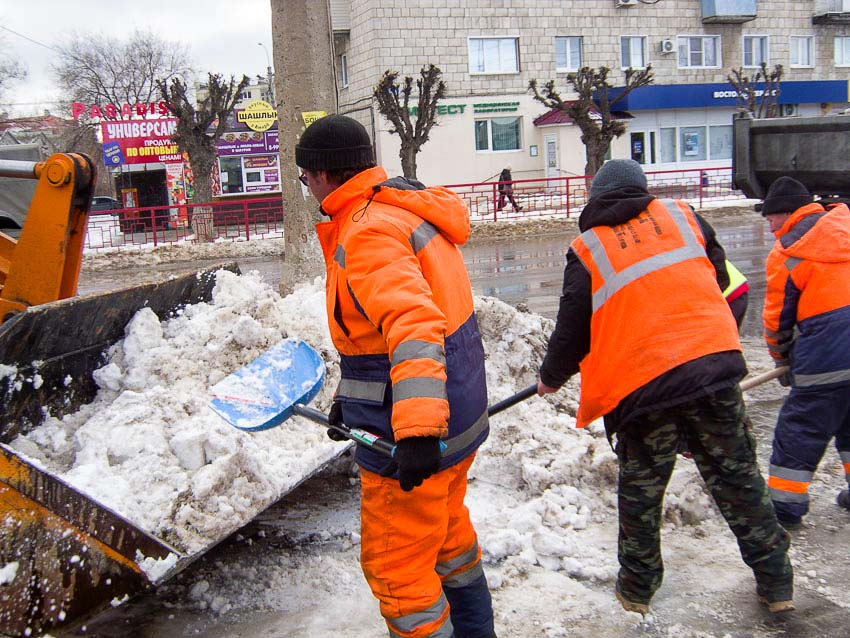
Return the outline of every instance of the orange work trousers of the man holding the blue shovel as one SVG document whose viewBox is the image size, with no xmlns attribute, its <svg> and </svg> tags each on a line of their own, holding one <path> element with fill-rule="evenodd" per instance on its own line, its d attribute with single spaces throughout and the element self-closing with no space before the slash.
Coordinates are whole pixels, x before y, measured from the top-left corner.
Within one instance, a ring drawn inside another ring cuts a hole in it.
<svg viewBox="0 0 850 638">
<path fill-rule="evenodd" d="M 360 469 L 360 563 L 392 638 L 494 638 L 481 549 L 463 504 L 472 454 L 411 492 Z"/>
</svg>

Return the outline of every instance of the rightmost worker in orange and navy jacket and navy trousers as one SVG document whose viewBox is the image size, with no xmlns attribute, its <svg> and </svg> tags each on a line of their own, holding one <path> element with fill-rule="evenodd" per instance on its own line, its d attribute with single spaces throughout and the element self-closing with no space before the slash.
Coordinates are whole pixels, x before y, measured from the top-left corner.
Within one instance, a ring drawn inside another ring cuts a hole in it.
<svg viewBox="0 0 850 638">
<path fill-rule="evenodd" d="M 789 365 L 773 435 L 768 487 L 779 519 L 802 524 L 808 487 L 831 439 L 850 482 L 850 209 L 829 210 L 780 177 L 761 214 L 776 243 L 767 257 L 764 336 L 777 366 Z M 850 509 L 847 490 L 838 504 Z"/>
</svg>

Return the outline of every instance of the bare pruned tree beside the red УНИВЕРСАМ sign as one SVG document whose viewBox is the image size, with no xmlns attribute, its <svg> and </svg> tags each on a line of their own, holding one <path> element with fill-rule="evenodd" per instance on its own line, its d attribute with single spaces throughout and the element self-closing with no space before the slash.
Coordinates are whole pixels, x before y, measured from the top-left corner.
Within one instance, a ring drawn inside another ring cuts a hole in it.
<svg viewBox="0 0 850 638">
<path fill-rule="evenodd" d="M 179 77 L 171 82 L 157 80 L 159 94 L 168 110 L 177 118 L 177 129 L 172 139 L 177 148 L 189 156 L 189 165 L 195 178 L 195 202 L 207 203 L 212 199 L 212 168 L 215 162 L 215 143 L 227 129 L 227 119 L 239 101 L 239 94 L 248 84 L 243 75 L 237 84 L 231 76 L 210 73 L 208 92 L 197 105 L 189 96 L 189 89 Z M 212 237 L 212 210 L 195 207 L 192 217 L 195 237 L 207 241 Z"/>
</svg>

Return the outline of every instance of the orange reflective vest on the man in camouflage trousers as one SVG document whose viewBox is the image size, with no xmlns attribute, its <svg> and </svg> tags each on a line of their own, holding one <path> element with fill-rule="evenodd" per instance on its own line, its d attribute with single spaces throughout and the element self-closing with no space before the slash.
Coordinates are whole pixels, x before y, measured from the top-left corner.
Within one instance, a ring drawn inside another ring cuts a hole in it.
<svg viewBox="0 0 850 638">
<path fill-rule="evenodd" d="M 668 370 L 741 350 L 687 204 L 655 199 L 624 224 L 585 231 L 572 249 L 590 273 L 593 296 L 578 427 Z"/>
</svg>

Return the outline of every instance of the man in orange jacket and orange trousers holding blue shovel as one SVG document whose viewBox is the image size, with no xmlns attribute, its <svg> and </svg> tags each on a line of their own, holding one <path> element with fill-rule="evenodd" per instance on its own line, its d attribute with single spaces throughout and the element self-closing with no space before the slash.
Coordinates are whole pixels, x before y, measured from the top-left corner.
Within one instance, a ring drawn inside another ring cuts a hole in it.
<svg viewBox="0 0 850 638">
<path fill-rule="evenodd" d="M 447 189 L 387 179 L 365 128 L 346 116 L 313 122 L 295 163 L 330 218 L 316 230 L 342 377 L 331 418 L 396 442 L 389 464 L 356 452 L 366 580 L 390 636 L 491 638 L 464 505 L 489 432 L 484 349 L 458 249 L 469 211 Z"/>
</svg>

